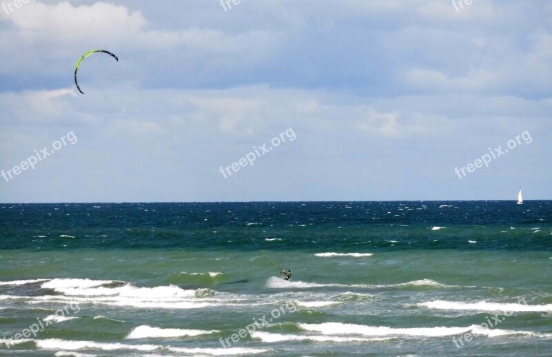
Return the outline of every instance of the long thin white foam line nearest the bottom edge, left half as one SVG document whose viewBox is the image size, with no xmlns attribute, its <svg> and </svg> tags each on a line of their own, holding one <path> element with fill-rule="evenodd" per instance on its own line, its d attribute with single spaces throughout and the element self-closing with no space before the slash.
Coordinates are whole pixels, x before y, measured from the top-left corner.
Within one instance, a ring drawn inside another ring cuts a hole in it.
<svg viewBox="0 0 552 357">
<path fill-rule="evenodd" d="M 40 349 L 61 349 L 65 351 L 81 350 L 81 349 L 99 349 L 101 351 L 170 351 L 181 354 L 205 354 L 210 356 L 233 356 L 240 354 L 264 354 L 270 349 L 255 349 L 244 347 L 230 348 L 181 348 L 162 345 L 127 345 L 124 343 L 95 343 L 92 341 L 75 341 L 75 340 L 60 340 L 50 338 L 47 340 L 32 340 Z"/>
</svg>

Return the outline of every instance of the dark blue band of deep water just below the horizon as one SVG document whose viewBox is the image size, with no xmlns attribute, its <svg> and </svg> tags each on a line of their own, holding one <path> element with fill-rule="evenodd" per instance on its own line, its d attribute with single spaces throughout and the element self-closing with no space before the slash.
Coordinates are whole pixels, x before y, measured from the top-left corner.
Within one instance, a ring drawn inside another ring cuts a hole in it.
<svg viewBox="0 0 552 357">
<path fill-rule="evenodd" d="M 551 233 L 552 201 L 0 205 L 0 249 L 550 250 Z"/>
</svg>

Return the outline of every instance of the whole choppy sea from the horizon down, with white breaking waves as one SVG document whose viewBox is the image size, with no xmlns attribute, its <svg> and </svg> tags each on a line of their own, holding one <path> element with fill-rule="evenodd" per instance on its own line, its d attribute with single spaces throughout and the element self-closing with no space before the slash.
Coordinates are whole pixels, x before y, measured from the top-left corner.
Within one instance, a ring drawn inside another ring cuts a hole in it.
<svg viewBox="0 0 552 357">
<path fill-rule="evenodd" d="M 552 356 L 551 272 L 552 201 L 0 204 L 0 354 Z"/>
</svg>

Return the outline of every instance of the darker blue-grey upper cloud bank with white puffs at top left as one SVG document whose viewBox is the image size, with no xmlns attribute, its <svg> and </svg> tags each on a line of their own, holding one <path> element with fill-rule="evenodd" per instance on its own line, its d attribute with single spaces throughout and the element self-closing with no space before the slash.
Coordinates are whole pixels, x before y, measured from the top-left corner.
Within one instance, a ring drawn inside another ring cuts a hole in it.
<svg viewBox="0 0 552 357">
<path fill-rule="evenodd" d="M 0 58 L 1 85 L 59 88 L 83 51 L 101 47 L 117 53 L 127 81 L 144 88 L 267 84 L 542 96 L 552 83 L 551 33 L 520 15 L 546 21 L 546 6 L 532 3 L 477 1 L 461 12 L 420 0 L 244 2 L 230 12 L 164 2 L 141 10 L 28 3 L 6 17 L 11 26 L 0 45 L 18 50 Z M 246 24 L 248 11 L 258 19 Z M 167 12 L 178 23 L 152 15 Z"/>
</svg>

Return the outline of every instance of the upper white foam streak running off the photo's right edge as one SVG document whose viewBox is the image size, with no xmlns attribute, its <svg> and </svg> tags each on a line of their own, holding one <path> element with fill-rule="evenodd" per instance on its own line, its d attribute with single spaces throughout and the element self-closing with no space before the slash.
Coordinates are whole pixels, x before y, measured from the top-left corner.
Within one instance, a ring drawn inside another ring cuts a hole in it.
<svg viewBox="0 0 552 357">
<path fill-rule="evenodd" d="M 552 312 L 552 304 L 548 305 L 525 305 L 515 303 L 487 303 L 479 301 L 477 303 L 462 303 L 457 301 L 435 300 L 427 303 L 419 303 L 418 306 L 428 309 L 444 310 L 475 310 L 488 312 Z"/>
</svg>

